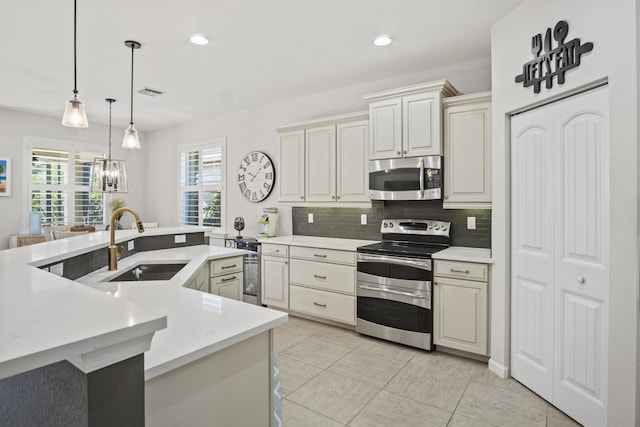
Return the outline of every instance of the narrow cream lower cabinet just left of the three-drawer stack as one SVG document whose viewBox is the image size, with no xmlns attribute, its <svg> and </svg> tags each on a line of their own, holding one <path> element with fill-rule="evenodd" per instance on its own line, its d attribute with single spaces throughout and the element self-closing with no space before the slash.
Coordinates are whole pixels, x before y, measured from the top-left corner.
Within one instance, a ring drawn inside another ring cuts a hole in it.
<svg viewBox="0 0 640 427">
<path fill-rule="evenodd" d="M 260 259 L 262 304 L 289 308 L 289 246 L 262 244 Z"/>
</svg>

